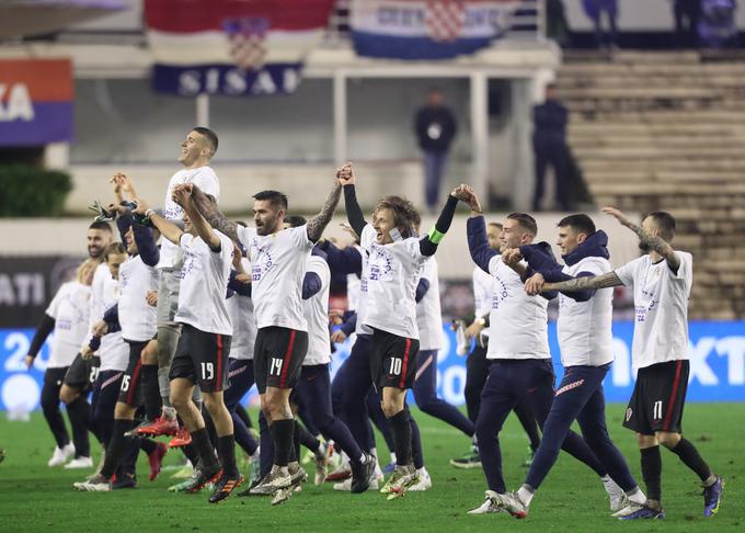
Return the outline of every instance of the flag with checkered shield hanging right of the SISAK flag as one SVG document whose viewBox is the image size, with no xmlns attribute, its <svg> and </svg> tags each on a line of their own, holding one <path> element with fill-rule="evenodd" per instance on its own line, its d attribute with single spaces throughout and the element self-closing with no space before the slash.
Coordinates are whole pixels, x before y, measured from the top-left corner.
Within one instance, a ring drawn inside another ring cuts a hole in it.
<svg viewBox="0 0 745 533">
<path fill-rule="evenodd" d="M 491 45 L 509 27 L 516 0 L 352 0 L 360 56 L 450 59 Z"/>
</svg>

